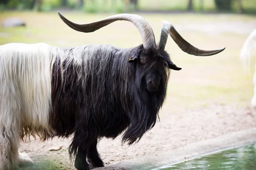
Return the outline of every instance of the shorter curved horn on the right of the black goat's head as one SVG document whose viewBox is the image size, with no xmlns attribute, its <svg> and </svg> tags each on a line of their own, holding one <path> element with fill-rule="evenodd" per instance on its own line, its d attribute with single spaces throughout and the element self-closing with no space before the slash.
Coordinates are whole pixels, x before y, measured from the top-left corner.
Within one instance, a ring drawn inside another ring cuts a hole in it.
<svg viewBox="0 0 256 170">
<path fill-rule="evenodd" d="M 218 54 L 223 51 L 225 48 L 219 50 L 200 50 L 193 45 L 189 44 L 186 40 L 184 40 L 180 34 L 175 30 L 174 26 L 168 21 L 162 21 L 161 35 L 160 40 L 157 43 L 157 48 L 160 50 L 164 50 L 168 34 L 172 37 L 172 39 L 176 42 L 176 44 L 180 47 L 180 49 L 188 54 L 192 54 L 195 56 L 211 56 L 214 54 Z"/>
</svg>

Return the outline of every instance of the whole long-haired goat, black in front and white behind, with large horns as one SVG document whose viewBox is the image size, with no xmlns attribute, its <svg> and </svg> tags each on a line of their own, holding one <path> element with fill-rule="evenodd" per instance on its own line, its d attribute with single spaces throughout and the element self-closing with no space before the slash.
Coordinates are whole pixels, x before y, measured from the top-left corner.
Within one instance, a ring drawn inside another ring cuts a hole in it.
<svg viewBox="0 0 256 170">
<path fill-rule="evenodd" d="M 60 48 L 10 43 L 0 46 L 0 169 L 19 169 L 32 160 L 18 152 L 20 139 L 42 141 L 73 136 L 70 159 L 78 170 L 103 167 L 98 139 L 139 142 L 154 127 L 166 98 L 169 69 L 180 70 L 164 50 L 168 34 L 188 54 L 210 56 L 225 48 L 204 51 L 184 40 L 163 21 L 156 44 L 148 22 L 135 14 L 116 14 L 76 24 L 58 12 L 70 28 L 93 32 L 117 20 L 133 23 L 142 45 L 118 48 L 85 45 Z M 86 161 L 88 159 L 88 162 Z"/>
</svg>

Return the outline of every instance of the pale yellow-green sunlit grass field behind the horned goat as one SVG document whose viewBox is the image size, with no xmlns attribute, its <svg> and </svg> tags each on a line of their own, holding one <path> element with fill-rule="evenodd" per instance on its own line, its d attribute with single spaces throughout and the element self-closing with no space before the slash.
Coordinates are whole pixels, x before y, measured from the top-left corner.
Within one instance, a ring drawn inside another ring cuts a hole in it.
<svg viewBox="0 0 256 170">
<path fill-rule="evenodd" d="M 76 23 L 99 20 L 111 14 L 84 14 L 62 12 Z M 256 17 L 233 14 L 140 14 L 154 30 L 156 41 L 160 35 L 161 20 L 171 22 L 190 43 L 201 49 L 226 49 L 215 56 L 196 57 L 181 51 L 169 37 L 166 51 L 173 62 L 182 68 L 172 71 L 166 105 L 168 112 L 204 107 L 212 103 L 250 104 L 253 94 L 252 74 L 245 74 L 239 60 L 239 51 L 253 26 Z M 66 26 L 56 12 L 3 12 L 6 17 L 20 17 L 26 28 L 0 28 L 0 45 L 9 42 L 77 46 L 91 43 L 134 47 L 142 41 L 136 27 L 129 22 L 112 23 L 93 33 L 81 33 Z M 235 27 L 232 27 L 232 26 Z M 172 109 L 170 109 L 172 108 Z M 169 110 L 170 109 L 170 110 Z"/>
</svg>

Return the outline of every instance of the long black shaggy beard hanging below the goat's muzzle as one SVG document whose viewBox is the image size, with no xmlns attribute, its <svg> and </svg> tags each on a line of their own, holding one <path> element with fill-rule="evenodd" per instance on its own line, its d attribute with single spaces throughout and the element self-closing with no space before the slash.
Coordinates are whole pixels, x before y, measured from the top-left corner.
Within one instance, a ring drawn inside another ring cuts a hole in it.
<svg viewBox="0 0 256 170">
<path fill-rule="evenodd" d="M 156 93 L 149 92 L 144 85 L 134 89 L 134 105 L 130 113 L 131 124 L 122 136 L 122 143 L 137 143 L 142 136 L 151 130 L 159 119 L 158 113 L 166 98 L 167 78 L 161 80 Z"/>
</svg>

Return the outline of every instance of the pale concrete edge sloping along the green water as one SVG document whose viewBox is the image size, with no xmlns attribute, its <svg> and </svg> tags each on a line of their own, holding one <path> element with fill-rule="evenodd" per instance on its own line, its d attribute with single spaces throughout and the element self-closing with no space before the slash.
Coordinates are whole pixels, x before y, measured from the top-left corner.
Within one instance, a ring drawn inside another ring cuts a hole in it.
<svg viewBox="0 0 256 170">
<path fill-rule="evenodd" d="M 118 164 L 95 168 L 94 170 L 152 170 L 157 167 L 184 161 L 184 156 L 195 158 L 208 153 L 225 150 L 244 144 L 256 142 L 256 127 L 228 133 L 179 147 L 175 150 L 155 152 L 136 159 L 129 159 Z M 132 146 L 131 146 L 132 147 Z"/>
</svg>

